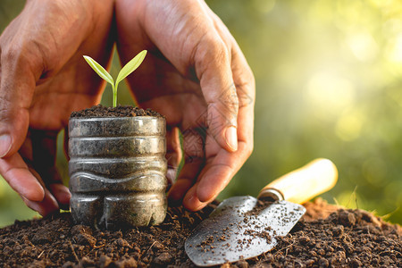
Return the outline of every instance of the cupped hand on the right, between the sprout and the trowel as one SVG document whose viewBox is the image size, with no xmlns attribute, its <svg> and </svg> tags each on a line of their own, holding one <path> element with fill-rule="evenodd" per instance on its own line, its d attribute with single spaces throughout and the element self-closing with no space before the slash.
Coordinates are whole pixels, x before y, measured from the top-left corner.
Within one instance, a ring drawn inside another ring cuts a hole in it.
<svg viewBox="0 0 402 268">
<path fill-rule="evenodd" d="M 116 0 L 121 62 L 147 49 L 128 78 L 138 105 L 167 121 L 169 191 L 198 210 L 222 191 L 251 154 L 255 80 L 238 44 L 203 1 Z"/>
</svg>

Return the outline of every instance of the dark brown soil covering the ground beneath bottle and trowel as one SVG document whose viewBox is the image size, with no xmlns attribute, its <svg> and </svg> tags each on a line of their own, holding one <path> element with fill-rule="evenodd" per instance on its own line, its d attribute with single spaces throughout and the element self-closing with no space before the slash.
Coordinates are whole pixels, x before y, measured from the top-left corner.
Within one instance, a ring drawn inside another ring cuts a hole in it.
<svg viewBox="0 0 402 268">
<path fill-rule="evenodd" d="M 184 252 L 197 213 L 170 207 L 163 224 L 130 230 L 73 225 L 68 213 L 0 230 L 0 267 L 192 267 Z M 306 204 L 302 220 L 270 252 L 222 267 L 402 267 L 402 228 L 363 210 Z"/>
</svg>

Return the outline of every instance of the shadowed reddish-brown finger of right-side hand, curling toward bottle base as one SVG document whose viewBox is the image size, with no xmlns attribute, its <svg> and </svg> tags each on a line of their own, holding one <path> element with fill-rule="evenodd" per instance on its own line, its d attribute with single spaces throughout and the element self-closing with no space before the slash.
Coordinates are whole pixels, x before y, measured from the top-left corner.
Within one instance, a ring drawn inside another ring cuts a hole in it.
<svg viewBox="0 0 402 268">
<path fill-rule="evenodd" d="M 174 202 L 181 201 L 188 189 L 197 180 L 197 176 L 205 163 L 203 137 L 196 130 L 183 131 L 183 149 L 185 163 L 168 194 Z"/>
</svg>

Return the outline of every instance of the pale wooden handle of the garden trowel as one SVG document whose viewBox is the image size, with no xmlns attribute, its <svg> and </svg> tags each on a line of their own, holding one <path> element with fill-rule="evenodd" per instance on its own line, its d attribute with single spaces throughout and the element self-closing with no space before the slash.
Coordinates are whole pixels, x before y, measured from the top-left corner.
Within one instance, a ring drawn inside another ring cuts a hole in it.
<svg viewBox="0 0 402 268">
<path fill-rule="evenodd" d="M 315 159 L 265 186 L 258 198 L 273 197 L 303 204 L 336 184 L 338 171 L 328 159 Z"/>
</svg>

